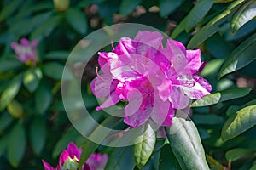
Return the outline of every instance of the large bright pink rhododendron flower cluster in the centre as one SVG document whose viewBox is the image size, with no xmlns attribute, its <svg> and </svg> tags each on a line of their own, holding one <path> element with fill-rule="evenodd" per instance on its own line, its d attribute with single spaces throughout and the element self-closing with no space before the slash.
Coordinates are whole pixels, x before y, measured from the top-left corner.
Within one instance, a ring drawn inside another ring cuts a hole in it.
<svg viewBox="0 0 256 170">
<path fill-rule="evenodd" d="M 189 106 L 189 99 L 210 94 L 211 85 L 199 74 L 201 50 L 186 50 L 181 42 L 157 31 L 139 31 L 134 39 L 122 37 L 113 51 L 100 52 L 100 74 L 90 87 L 106 100 L 101 110 L 125 100 L 124 122 L 137 127 L 151 117 L 159 126 L 171 126 L 176 109 Z"/>
</svg>

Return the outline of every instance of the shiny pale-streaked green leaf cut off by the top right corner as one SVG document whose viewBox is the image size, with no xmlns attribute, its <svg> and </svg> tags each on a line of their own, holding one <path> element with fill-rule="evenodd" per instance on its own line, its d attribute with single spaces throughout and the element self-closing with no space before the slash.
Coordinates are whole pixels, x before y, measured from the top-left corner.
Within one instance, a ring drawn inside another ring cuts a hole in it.
<svg viewBox="0 0 256 170">
<path fill-rule="evenodd" d="M 256 16 L 256 2 L 254 0 L 247 1 L 241 8 L 236 10 L 230 20 L 230 30 L 235 33 L 241 26 L 245 25 L 249 20 L 253 20 Z"/>
</svg>

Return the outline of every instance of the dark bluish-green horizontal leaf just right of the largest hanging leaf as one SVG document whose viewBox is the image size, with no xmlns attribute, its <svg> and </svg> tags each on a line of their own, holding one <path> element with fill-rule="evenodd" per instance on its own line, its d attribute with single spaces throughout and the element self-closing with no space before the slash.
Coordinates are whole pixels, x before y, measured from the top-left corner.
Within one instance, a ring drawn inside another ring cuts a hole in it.
<svg viewBox="0 0 256 170">
<path fill-rule="evenodd" d="M 195 122 L 195 124 L 208 124 L 208 125 L 214 125 L 214 124 L 220 124 L 224 120 L 222 116 L 217 115 L 193 115 L 192 120 Z"/>
</svg>

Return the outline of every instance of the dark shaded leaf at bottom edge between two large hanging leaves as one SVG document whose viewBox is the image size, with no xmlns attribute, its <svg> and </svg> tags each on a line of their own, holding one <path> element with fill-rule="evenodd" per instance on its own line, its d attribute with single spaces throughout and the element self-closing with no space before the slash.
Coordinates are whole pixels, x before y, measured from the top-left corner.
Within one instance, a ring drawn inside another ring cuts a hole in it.
<svg viewBox="0 0 256 170">
<path fill-rule="evenodd" d="M 170 144 L 166 144 L 160 153 L 159 170 L 179 170 L 179 164 L 174 156 Z"/>
</svg>

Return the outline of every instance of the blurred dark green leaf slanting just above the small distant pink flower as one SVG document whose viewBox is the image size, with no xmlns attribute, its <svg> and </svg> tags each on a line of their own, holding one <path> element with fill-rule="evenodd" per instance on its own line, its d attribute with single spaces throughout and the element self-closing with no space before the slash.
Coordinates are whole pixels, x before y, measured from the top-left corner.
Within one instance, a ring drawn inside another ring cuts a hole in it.
<svg viewBox="0 0 256 170">
<path fill-rule="evenodd" d="M 45 20 L 41 25 L 37 26 L 34 31 L 32 31 L 31 39 L 42 39 L 43 37 L 48 37 L 49 34 L 54 31 L 55 27 L 61 23 L 61 16 L 55 15 Z"/>
</svg>

